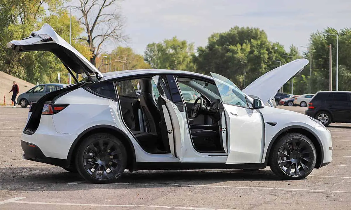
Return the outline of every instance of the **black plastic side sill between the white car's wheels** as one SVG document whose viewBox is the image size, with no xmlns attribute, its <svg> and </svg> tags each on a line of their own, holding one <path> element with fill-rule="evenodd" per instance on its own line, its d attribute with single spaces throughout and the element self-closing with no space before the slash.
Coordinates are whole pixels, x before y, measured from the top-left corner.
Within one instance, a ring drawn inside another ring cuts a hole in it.
<svg viewBox="0 0 351 210">
<path fill-rule="evenodd" d="M 161 162 L 135 162 L 134 170 L 191 170 L 191 169 L 261 169 L 266 168 L 264 163 L 161 163 Z"/>
</svg>

